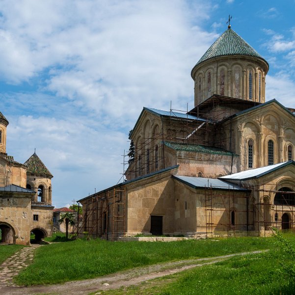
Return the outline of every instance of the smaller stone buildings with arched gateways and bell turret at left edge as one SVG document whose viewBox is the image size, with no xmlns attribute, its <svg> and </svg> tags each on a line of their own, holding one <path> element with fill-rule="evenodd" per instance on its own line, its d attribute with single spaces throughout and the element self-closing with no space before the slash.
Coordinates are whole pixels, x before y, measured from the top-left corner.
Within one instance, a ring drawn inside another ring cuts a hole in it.
<svg viewBox="0 0 295 295">
<path fill-rule="evenodd" d="M 8 120 L 0 112 L 0 243 L 30 244 L 52 234 L 53 175 L 34 153 L 24 164 L 6 153 Z"/>
</svg>

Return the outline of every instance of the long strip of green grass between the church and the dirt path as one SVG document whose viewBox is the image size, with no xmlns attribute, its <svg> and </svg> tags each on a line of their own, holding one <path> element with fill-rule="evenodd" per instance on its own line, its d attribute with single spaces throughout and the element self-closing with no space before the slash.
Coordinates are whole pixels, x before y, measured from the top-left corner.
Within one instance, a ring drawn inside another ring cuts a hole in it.
<svg viewBox="0 0 295 295">
<path fill-rule="evenodd" d="M 36 249 L 33 264 L 16 278 L 20 285 L 55 284 L 93 278 L 166 261 L 213 257 L 274 247 L 273 238 L 176 242 L 77 240 Z"/>
</svg>

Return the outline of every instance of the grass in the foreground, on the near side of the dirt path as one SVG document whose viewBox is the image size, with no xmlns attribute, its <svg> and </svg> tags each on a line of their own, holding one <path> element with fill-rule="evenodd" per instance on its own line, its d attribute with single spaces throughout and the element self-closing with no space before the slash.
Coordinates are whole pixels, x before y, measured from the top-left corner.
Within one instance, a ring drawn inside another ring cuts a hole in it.
<svg viewBox="0 0 295 295">
<path fill-rule="evenodd" d="M 295 281 L 286 278 L 278 251 L 247 255 L 144 282 L 100 291 L 102 295 L 291 295 Z M 285 263 L 289 263 L 285 261 Z M 294 264 L 294 261 L 293 261 Z M 95 294 L 95 293 L 91 293 Z"/>
</svg>

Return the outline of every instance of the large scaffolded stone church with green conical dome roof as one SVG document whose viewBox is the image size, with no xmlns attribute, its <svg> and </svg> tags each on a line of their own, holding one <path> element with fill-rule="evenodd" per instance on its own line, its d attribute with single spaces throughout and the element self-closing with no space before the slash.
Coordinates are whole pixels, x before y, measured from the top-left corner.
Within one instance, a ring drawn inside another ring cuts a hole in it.
<svg viewBox="0 0 295 295">
<path fill-rule="evenodd" d="M 144 107 L 126 181 L 82 198 L 79 233 L 266 235 L 293 229 L 295 109 L 266 102 L 268 62 L 230 26 L 192 68 L 194 108 Z"/>
</svg>

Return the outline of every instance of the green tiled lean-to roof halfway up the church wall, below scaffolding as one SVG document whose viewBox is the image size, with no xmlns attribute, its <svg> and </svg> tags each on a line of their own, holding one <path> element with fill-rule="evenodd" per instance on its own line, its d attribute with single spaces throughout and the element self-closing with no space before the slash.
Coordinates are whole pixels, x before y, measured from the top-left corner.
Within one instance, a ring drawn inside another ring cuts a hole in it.
<svg viewBox="0 0 295 295">
<path fill-rule="evenodd" d="M 231 153 L 227 150 L 224 150 L 222 148 L 200 145 L 200 144 L 164 141 L 164 145 L 166 145 L 176 151 L 187 151 L 187 152 L 214 154 L 214 155 L 221 155 L 221 156 L 232 156 L 232 155 L 238 156 L 238 155 L 233 154 L 233 153 Z"/>
</svg>

